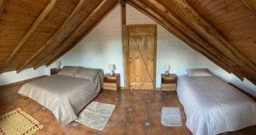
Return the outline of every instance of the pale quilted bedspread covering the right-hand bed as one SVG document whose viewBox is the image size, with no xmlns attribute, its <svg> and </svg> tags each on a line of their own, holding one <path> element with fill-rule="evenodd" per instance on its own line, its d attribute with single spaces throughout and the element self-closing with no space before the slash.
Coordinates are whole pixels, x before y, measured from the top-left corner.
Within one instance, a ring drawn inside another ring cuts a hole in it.
<svg viewBox="0 0 256 135">
<path fill-rule="evenodd" d="M 256 124 L 256 103 L 218 77 L 179 76 L 177 93 L 193 134 L 218 134 Z"/>
</svg>

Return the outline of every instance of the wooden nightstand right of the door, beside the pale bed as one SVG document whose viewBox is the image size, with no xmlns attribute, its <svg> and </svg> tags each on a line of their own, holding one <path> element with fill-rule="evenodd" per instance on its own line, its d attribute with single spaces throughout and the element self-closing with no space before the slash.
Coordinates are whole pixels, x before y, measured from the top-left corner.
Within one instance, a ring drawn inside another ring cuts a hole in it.
<svg viewBox="0 0 256 135">
<path fill-rule="evenodd" d="M 161 94 L 163 91 L 175 91 L 177 85 L 177 76 L 176 74 L 164 75 L 161 74 Z"/>
</svg>

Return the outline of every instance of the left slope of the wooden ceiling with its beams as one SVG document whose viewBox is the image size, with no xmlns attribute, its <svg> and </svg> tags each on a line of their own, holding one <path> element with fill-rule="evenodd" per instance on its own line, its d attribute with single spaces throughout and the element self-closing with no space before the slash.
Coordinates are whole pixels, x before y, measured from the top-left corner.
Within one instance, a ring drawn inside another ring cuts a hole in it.
<svg viewBox="0 0 256 135">
<path fill-rule="evenodd" d="M 20 72 L 55 61 L 99 24 L 118 1 L 0 0 L 0 4 L 0 72 Z"/>
</svg>

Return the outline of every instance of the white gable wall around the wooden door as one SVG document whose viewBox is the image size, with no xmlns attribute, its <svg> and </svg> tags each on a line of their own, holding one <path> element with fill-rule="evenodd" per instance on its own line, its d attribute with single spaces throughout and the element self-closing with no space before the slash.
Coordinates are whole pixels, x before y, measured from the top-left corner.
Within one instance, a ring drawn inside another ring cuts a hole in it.
<svg viewBox="0 0 256 135">
<path fill-rule="evenodd" d="M 101 68 L 108 71 L 108 64 L 115 64 L 115 73 L 121 74 L 121 86 L 124 85 L 123 62 L 121 47 L 121 20 L 118 6 L 107 16 L 87 37 L 80 41 L 71 51 L 59 60 L 63 65 L 81 65 L 88 68 Z M 140 13 L 130 5 L 126 6 L 126 24 L 157 24 L 154 20 Z M 191 49 L 183 41 L 157 25 L 157 80 L 160 87 L 160 74 L 164 73 L 164 64 L 170 65 L 170 72 L 177 75 L 186 74 L 186 69 L 208 68 L 212 74 L 219 76 L 226 82 L 238 84 L 245 91 L 253 94 L 256 86 L 245 80 L 241 82 L 200 53 Z M 47 68 L 47 74 L 54 64 Z M 255 96 L 255 95 L 254 95 Z"/>
</svg>

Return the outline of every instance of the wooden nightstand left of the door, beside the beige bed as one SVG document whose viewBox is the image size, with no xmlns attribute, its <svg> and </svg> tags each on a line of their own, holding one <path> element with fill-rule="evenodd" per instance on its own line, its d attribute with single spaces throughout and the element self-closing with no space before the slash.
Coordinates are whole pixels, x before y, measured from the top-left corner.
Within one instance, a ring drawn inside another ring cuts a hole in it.
<svg viewBox="0 0 256 135">
<path fill-rule="evenodd" d="M 113 76 L 111 76 L 110 74 L 105 74 L 103 76 L 103 89 L 104 89 L 104 93 L 105 90 L 113 90 L 113 91 L 117 91 L 119 90 L 120 87 L 120 74 L 114 74 Z"/>
</svg>

